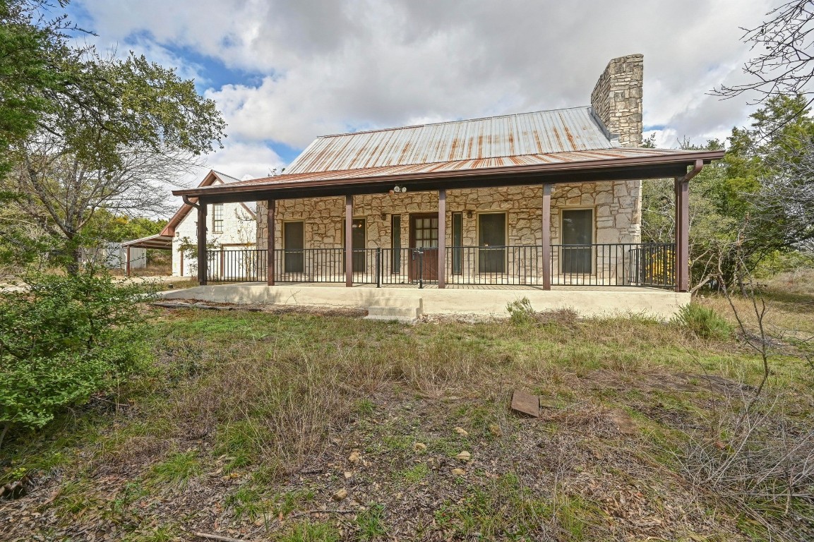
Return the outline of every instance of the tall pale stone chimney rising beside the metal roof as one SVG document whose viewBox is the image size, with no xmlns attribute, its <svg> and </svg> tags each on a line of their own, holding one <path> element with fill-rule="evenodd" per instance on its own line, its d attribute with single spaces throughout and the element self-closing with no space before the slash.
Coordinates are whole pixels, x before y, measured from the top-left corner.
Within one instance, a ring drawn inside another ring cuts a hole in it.
<svg viewBox="0 0 814 542">
<path fill-rule="evenodd" d="M 641 146 L 641 85 L 644 56 L 612 59 L 591 93 L 591 106 L 622 146 Z"/>
</svg>

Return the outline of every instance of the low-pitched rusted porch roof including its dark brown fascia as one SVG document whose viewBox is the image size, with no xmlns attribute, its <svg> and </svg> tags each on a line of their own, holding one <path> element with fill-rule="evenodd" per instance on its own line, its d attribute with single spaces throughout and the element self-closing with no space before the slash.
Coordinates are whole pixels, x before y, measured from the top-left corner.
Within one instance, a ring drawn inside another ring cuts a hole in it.
<svg viewBox="0 0 814 542">
<path fill-rule="evenodd" d="M 381 194 L 394 185 L 409 191 L 481 188 L 541 183 L 580 183 L 684 177 L 701 161 L 723 158 L 724 151 L 682 151 L 614 147 L 427 164 L 285 173 L 225 185 L 173 190 L 173 195 L 206 203 Z"/>
</svg>

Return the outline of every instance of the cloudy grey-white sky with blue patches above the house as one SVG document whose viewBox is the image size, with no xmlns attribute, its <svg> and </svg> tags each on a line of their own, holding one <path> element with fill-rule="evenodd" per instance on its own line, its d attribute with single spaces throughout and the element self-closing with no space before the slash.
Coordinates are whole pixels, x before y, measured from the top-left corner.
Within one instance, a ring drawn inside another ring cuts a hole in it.
<svg viewBox="0 0 814 542">
<path fill-rule="evenodd" d="M 317 136 L 585 106 L 614 57 L 645 57 L 657 146 L 726 138 L 755 110 L 742 43 L 770 0 L 73 0 L 101 50 L 194 78 L 228 123 L 208 168 L 264 177 Z M 179 179 L 177 185 L 199 179 Z"/>
</svg>

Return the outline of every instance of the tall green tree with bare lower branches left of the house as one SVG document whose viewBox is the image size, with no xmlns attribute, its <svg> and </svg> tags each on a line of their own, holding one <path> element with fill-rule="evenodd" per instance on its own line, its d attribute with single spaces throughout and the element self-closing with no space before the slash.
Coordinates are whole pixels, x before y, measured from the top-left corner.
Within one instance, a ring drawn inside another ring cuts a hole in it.
<svg viewBox="0 0 814 542">
<path fill-rule="evenodd" d="M 10 54 L 40 67 L 28 80 L 6 77 L 0 88 L 0 115 L 8 120 L 0 121 L 8 126 L 0 143 L 11 164 L 0 190 L 61 248 L 75 273 L 94 213 L 160 210 L 164 183 L 220 145 L 225 123 L 215 103 L 173 69 L 132 53 L 117 59 L 69 46 L 69 21 L 43 23 L 44 2 L 0 2 L 7 33 L 22 36 Z M 13 69 L 10 61 L 0 72 Z M 0 238 L 4 228 L 0 223 Z"/>
</svg>

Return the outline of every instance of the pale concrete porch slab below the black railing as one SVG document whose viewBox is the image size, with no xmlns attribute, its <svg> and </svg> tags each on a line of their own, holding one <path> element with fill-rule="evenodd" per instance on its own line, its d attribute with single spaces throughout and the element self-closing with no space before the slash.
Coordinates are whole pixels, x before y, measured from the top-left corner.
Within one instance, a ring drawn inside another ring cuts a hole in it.
<svg viewBox="0 0 814 542">
<path fill-rule="evenodd" d="M 672 318 L 685 304 L 688 293 L 632 286 L 570 286 L 551 291 L 520 289 L 418 289 L 335 285 L 286 284 L 265 286 L 239 283 L 195 286 L 164 291 L 164 299 L 199 299 L 234 304 L 299 304 L 322 307 L 398 307 L 420 303 L 424 314 L 477 314 L 506 317 L 506 304 L 527 297 L 537 311 L 573 308 L 580 316 L 645 314 L 661 320 Z"/>
</svg>

